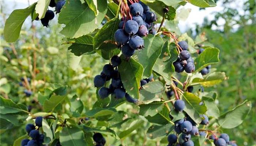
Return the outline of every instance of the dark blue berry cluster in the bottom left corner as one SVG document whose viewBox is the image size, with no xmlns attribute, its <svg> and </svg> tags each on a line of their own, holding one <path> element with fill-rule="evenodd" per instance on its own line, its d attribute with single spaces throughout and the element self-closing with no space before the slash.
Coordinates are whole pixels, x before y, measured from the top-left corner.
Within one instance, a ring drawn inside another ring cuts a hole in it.
<svg viewBox="0 0 256 146">
<path fill-rule="evenodd" d="M 23 139 L 21 141 L 21 146 L 41 146 L 44 143 L 44 134 L 39 133 L 39 127 L 42 127 L 42 120 L 43 117 L 38 116 L 35 118 L 35 125 L 38 127 L 34 126 L 34 124 L 27 124 L 26 125 L 26 131 L 29 134 L 30 139 Z"/>
</svg>

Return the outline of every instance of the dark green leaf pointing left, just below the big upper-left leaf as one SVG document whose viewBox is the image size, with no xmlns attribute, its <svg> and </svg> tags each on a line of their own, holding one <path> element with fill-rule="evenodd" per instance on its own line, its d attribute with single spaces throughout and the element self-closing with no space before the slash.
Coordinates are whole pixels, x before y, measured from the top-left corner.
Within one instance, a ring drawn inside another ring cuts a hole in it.
<svg viewBox="0 0 256 146">
<path fill-rule="evenodd" d="M 83 35 L 79 38 L 69 39 L 67 43 L 72 43 L 72 45 L 68 47 L 68 50 L 71 50 L 76 56 L 94 53 L 93 37 L 91 35 Z"/>
</svg>

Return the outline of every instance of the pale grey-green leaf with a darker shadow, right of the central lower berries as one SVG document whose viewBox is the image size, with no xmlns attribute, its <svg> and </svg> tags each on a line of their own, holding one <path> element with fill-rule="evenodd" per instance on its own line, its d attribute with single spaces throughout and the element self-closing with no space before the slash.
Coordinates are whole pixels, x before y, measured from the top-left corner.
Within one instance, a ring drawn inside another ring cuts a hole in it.
<svg viewBox="0 0 256 146">
<path fill-rule="evenodd" d="M 162 82 L 148 82 L 148 84 L 143 85 L 143 88 L 140 90 L 140 102 L 148 104 L 152 101 L 161 101 L 163 92 L 165 92 L 165 88 Z"/>
</svg>

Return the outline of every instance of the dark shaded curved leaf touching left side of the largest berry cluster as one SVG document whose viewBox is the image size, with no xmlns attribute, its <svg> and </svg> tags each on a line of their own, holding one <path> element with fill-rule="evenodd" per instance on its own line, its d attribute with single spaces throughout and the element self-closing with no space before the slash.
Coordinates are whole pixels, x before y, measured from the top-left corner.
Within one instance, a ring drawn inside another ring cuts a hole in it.
<svg viewBox="0 0 256 146">
<path fill-rule="evenodd" d="M 114 34 L 118 29 L 120 20 L 114 18 L 103 25 L 103 27 L 94 36 L 93 44 L 94 48 L 98 48 L 103 42 L 114 41 Z"/>
</svg>

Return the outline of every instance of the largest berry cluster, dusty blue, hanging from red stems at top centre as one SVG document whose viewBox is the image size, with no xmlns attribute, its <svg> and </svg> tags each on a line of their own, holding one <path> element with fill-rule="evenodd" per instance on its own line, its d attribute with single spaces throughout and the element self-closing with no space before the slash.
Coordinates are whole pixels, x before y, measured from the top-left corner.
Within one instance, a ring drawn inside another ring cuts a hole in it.
<svg viewBox="0 0 256 146">
<path fill-rule="evenodd" d="M 144 47 L 141 37 L 148 34 L 148 29 L 152 29 L 153 22 L 157 20 L 155 13 L 150 12 L 149 7 L 142 2 L 130 4 L 129 10 L 132 14 L 131 20 L 123 17 L 114 35 L 115 41 L 127 58 L 130 58 L 135 50 Z"/>
</svg>

